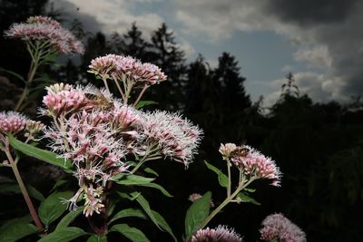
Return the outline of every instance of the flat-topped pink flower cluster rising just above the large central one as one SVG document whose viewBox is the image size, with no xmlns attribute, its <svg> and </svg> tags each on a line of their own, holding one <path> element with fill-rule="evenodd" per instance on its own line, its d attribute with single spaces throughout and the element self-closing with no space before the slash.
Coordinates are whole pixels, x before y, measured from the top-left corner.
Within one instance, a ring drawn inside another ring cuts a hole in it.
<svg viewBox="0 0 363 242">
<path fill-rule="evenodd" d="M 95 58 L 89 68 L 89 73 L 101 78 L 127 79 L 136 85 L 152 85 L 166 80 L 166 75 L 159 67 L 152 63 L 142 63 L 131 56 L 107 54 Z"/>
</svg>

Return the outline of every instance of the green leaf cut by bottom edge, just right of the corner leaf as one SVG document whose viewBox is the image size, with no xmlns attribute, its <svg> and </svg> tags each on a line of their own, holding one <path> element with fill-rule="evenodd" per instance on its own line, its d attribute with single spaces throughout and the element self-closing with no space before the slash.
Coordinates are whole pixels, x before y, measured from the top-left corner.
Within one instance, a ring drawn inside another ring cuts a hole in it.
<svg viewBox="0 0 363 242">
<path fill-rule="evenodd" d="M 74 240 L 76 237 L 82 237 L 87 233 L 79 227 L 63 227 L 55 230 L 53 233 L 42 237 L 38 242 L 68 242 Z"/>
</svg>

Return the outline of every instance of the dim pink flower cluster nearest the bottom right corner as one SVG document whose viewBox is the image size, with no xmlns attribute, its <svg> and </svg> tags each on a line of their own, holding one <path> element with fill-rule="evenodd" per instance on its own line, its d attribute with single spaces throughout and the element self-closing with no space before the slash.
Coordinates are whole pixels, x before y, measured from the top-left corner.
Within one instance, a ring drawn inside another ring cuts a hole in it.
<svg viewBox="0 0 363 242">
<path fill-rule="evenodd" d="M 305 233 L 282 214 L 272 214 L 265 218 L 260 229 L 261 239 L 281 242 L 305 242 Z"/>
</svg>

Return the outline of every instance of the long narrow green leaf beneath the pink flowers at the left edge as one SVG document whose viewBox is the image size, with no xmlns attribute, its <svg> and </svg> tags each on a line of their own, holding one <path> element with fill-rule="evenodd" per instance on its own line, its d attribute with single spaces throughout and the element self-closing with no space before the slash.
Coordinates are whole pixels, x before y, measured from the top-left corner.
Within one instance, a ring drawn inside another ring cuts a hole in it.
<svg viewBox="0 0 363 242">
<path fill-rule="evenodd" d="M 32 145 L 25 144 L 24 142 L 20 140 L 16 140 L 13 135 L 9 135 L 9 140 L 11 146 L 15 150 L 19 150 L 27 156 L 34 157 L 39 160 L 43 160 L 45 162 L 48 162 L 52 165 L 61 167 L 63 169 L 71 169 L 73 167 L 72 162 L 70 160 L 65 160 L 64 158 L 58 158 L 57 154 L 54 152 L 48 151 L 48 150 L 42 150 L 39 148 L 36 148 Z"/>
</svg>

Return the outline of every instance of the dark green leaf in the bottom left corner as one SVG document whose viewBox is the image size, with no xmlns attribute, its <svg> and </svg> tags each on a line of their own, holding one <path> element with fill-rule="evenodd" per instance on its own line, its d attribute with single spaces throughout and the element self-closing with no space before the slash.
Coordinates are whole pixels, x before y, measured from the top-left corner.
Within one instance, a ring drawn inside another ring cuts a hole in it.
<svg viewBox="0 0 363 242">
<path fill-rule="evenodd" d="M 29 222 L 32 220 L 29 216 L 24 218 L 11 219 L 0 227 L 0 241 L 13 242 L 22 237 L 32 235 L 37 232 L 37 227 Z"/>
</svg>

